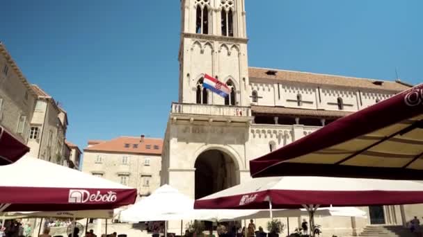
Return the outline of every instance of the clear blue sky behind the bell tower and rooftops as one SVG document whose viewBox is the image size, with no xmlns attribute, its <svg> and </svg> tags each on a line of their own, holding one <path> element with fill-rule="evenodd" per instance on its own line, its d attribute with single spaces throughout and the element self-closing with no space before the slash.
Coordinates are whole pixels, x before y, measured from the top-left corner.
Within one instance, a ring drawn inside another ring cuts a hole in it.
<svg viewBox="0 0 423 237">
<path fill-rule="evenodd" d="M 179 0 L 3 1 L 0 40 L 67 110 L 67 138 L 163 137 L 177 101 Z M 421 0 L 248 0 L 254 67 L 423 82 Z"/>
</svg>

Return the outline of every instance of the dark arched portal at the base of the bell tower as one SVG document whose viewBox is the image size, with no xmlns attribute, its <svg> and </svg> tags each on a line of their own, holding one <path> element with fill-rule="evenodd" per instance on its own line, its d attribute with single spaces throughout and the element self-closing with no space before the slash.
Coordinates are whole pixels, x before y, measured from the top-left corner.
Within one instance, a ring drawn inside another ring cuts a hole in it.
<svg viewBox="0 0 423 237">
<path fill-rule="evenodd" d="M 195 160 L 195 199 L 239 184 L 239 166 L 221 150 L 206 150 Z"/>
</svg>

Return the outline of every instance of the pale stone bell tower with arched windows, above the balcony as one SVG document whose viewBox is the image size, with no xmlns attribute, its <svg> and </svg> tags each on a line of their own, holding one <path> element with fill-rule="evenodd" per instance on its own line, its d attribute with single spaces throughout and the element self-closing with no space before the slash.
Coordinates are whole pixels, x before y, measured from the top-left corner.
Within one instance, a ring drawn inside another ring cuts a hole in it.
<svg viewBox="0 0 423 237">
<path fill-rule="evenodd" d="M 248 106 L 244 0 L 182 0 L 179 103 Z M 202 87 L 204 73 L 226 83 L 227 98 Z"/>
</svg>

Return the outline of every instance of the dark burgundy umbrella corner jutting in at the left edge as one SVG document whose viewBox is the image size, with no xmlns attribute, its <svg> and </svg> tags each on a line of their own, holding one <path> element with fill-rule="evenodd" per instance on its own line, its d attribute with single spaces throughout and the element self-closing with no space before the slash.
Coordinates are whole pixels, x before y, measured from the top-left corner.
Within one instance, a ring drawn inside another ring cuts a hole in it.
<svg viewBox="0 0 423 237">
<path fill-rule="evenodd" d="M 0 126 L 0 166 L 12 164 L 29 152 L 29 147 Z"/>
</svg>

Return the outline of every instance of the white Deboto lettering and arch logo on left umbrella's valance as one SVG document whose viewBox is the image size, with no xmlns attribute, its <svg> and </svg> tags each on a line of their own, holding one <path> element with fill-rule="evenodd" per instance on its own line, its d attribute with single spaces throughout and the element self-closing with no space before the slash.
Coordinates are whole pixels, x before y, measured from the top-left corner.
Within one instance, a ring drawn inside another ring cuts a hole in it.
<svg viewBox="0 0 423 237">
<path fill-rule="evenodd" d="M 90 193 L 89 191 L 83 189 L 70 189 L 68 202 L 115 202 L 117 199 L 118 197 L 113 191 L 102 194 L 100 191 L 97 191 L 96 193 Z"/>
</svg>

